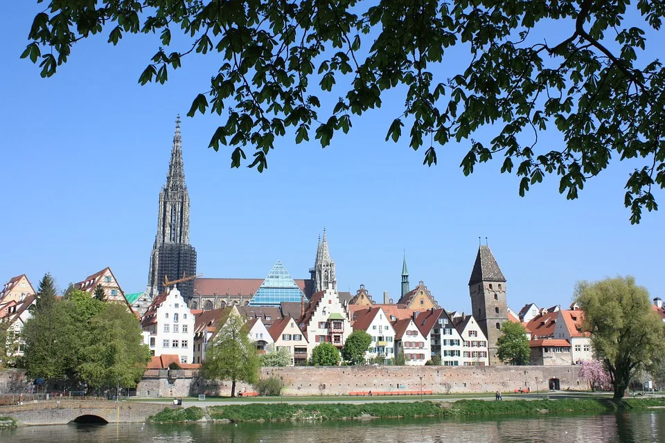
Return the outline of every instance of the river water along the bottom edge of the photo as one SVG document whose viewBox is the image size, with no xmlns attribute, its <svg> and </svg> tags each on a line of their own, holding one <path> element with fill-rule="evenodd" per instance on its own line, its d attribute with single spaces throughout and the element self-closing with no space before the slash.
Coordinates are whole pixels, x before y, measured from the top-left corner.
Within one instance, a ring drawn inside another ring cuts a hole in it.
<svg viewBox="0 0 665 443">
<path fill-rule="evenodd" d="M 2 443 L 665 442 L 665 410 L 500 419 L 296 424 L 60 425 L 0 429 Z"/>
</svg>

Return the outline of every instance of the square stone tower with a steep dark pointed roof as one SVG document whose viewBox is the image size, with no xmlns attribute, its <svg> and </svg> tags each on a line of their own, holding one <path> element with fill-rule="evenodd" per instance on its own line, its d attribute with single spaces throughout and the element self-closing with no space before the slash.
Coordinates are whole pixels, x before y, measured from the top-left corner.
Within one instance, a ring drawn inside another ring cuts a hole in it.
<svg viewBox="0 0 665 443">
<path fill-rule="evenodd" d="M 506 278 L 489 246 L 478 248 L 469 279 L 469 293 L 472 314 L 487 337 L 490 365 L 500 365 L 497 339 L 501 335 L 501 325 L 508 320 Z"/>
</svg>

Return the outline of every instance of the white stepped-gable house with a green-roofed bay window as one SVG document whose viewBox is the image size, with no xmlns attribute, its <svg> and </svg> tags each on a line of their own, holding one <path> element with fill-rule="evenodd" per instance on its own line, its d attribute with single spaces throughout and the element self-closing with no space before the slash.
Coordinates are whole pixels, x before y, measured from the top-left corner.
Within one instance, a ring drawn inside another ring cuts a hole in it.
<svg viewBox="0 0 665 443">
<path fill-rule="evenodd" d="M 341 348 L 351 334 L 351 321 L 335 289 L 314 293 L 297 323 L 312 347 L 327 342 Z"/>
</svg>

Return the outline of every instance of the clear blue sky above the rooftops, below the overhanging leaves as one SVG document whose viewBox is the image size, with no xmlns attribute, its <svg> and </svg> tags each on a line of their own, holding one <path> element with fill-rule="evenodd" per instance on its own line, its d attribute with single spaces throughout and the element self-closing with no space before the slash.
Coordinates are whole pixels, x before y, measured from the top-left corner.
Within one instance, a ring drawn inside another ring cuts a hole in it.
<svg viewBox="0 0 665 443">
<path fill-rule="evenodd" d="M 140 87 L 157 39 L 127 36 L 114 48 L 103 36 L 77 44 L 70 62 L 42 79 L 19 60 L 38 10 L 28 3 L 10 2 L 0 17 L 0 280 L 27 273 L 36 286 L 50 271 L 64 288 L 111 266 L 126 292 L 141 291 L 175 116 L 186 114 L 219 60 L 190 58 L 166 85 Z M 231 170 L 230 150 L 207 149 L 218 118 L 184 117 L 198 271 L 263 278 L 281 260 L 305 278 L 326 226 L 339 289 L 365 284 L 375 299 L 398 297 L 406 249 L 412 287 L 423 280 L 443 307 L 468 310 L 479 236 L 489 238 L 513 309 L 568 305 L 576 281 L 617 274 L 662 295 L 665 215 L 631 226 L 623 208 L 634 164 L 612 161 L 576 201 L 558 194 L 556 177 L 520 198 L 518 179 L 499 174 L 500 160 L 463 176 L 467 143 L 438 148 L 433 168 L 407 139 L 384 143 L 402 102 L 387 95 L 325 150 L 278 141 L 263 174 Z M 540 149 L 559 140 L 542 137 Z M 665 204 L 663 192 L 657 197 Z"/>
</svg>

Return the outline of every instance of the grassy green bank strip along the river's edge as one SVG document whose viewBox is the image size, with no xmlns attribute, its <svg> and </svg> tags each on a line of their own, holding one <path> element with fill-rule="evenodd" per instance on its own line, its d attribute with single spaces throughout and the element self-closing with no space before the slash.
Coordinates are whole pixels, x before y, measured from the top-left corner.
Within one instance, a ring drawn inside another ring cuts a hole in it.
<svg viewBox="0 0 665 443">
<path fill-rule="evenodd" d="M 665 398 L 650 399 L 537 399 L 511 401 L 459 400 L 417 401 L 412 403 L 366 404 L 244 404 L 209 406 L 208 413 L 215 420 L 231 422 L 286 422 L 292 420 L 343 420 L 364 418 L 416 418 L 490 415 L 538 415 L 563 412 L 614 412 L 647 408 L 665 408 Z M 204 410 L 166 408 L 150 417 L 150 422 L 196 422 L 204 417 Z"/>
</svg>

